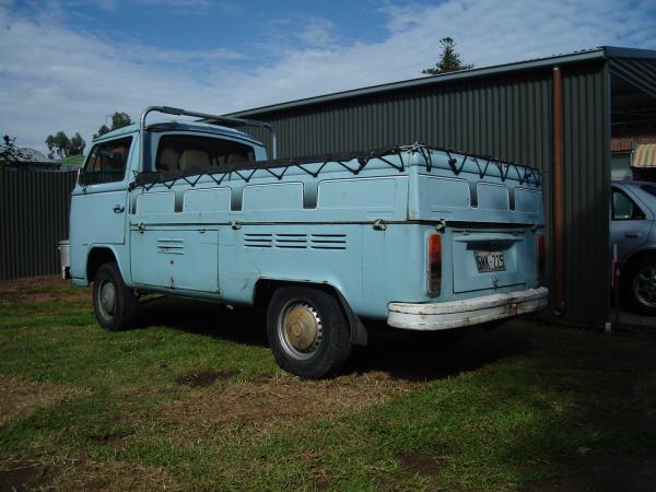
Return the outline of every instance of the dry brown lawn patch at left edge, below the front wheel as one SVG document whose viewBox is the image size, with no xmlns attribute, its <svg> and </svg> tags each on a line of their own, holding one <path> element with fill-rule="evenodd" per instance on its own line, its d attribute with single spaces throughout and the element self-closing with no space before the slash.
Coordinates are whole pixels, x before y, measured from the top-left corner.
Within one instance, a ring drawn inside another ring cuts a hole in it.
<svg viewBox="0 0 656 492">
<path fill-rule="evenodd" d="M 84 391 L 51 383 L 28 382 L 15 376 L 0 376 L 0 424 L 35 408 L 78 398 Z"/>
</svg>

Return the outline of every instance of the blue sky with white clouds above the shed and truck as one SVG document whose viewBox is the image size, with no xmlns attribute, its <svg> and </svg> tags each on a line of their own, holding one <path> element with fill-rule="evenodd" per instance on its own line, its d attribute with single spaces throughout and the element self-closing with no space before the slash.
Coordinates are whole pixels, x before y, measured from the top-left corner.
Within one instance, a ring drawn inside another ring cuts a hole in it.
<svg viewBox="0 0 656 492">
<path fill-rule="evenodd" d="M 450 36 L 476 67 L 656 49 L 654 0 L 0 0 L 0 134 L 89 143 L 114 112 L 225 114 L 422 77 Z"/>
</svg>

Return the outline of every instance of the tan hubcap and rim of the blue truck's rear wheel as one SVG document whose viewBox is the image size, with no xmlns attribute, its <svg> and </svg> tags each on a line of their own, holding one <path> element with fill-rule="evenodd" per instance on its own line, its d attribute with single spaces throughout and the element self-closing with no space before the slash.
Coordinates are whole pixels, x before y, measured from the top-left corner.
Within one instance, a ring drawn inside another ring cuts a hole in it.
<svg viewBox="0 0 656 492">
<path fill-rule="evenodd" d="M 288 354 L 297 360 L 307 360 L 321 344 L 321 318 L 309 304 L 291 301 L 281 311 L 278 335 Z"/>
</svg>

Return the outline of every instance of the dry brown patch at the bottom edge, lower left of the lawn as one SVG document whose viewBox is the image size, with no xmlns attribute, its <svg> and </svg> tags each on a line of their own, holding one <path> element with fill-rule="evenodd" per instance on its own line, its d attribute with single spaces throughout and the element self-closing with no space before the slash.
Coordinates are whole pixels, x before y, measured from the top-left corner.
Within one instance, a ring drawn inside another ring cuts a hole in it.
<svg viewBox="0 0 656 492">
<path fill-rule="evenodd" d="M 73 462 L 58 473 L 49 490 L 140 491 L 180 490 L 165 469 L 125 461 Z"/>
</svg>

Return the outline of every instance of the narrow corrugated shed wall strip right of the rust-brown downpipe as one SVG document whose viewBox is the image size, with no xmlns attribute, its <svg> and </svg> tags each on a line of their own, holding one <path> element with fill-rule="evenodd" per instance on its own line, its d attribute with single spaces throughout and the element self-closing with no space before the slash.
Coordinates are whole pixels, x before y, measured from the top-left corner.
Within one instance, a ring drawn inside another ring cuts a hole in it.
<svg viewBox="0 0 656 492">
<path fill-rule="evenodd" d="M 610 297 L 610 81 L 607 67 L 563 70 L 565 314 L 601 324 Z"/>
</svg>

